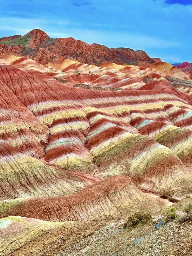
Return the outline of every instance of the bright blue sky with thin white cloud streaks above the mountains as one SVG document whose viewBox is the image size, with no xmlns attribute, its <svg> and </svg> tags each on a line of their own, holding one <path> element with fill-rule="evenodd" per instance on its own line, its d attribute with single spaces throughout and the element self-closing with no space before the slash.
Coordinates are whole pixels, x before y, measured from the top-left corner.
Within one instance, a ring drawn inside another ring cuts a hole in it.
<svg viewBox="0 0 192 256">
<path fill-rule="evenodd" d="M 0 0 L 0 37 L 39 28 L 173 63 L 192 62 L 191 23 L 192 0 Z"/>
</svg>

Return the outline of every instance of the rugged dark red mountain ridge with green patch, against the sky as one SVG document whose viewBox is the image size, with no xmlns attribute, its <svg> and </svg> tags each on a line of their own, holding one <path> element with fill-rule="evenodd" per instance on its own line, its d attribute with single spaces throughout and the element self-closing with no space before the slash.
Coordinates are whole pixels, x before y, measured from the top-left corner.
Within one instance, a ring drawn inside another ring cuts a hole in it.
<svg viewBox="0 0 192 256">
<path fill-rule="evenodd" d="M 156 61 L 159 62 L 159 59 L 151 59 L 144 51 L 123 47 L 110 49 L 96 43 L 89 45 L 71 37 L 53 39 L 40 29 L 34 29 L 22 37 L 7 37 L 1 43 L 1 52 L 23 55 L 41 64 L 50 62 L 53 57 L 65 57 L 88 64 L 99 64 L 103 61 L 130 64 L 144 61 L 153 65 Z M 20 51 L 18 45 L 23 46 Z"/>
</svg>

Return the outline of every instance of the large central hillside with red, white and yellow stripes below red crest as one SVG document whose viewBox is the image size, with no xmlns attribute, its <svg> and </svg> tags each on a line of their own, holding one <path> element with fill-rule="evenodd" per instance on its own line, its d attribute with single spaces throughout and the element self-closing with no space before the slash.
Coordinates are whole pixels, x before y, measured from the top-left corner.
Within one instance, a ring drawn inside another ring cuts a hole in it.
<svg viewBox="0 0 192 256">
<path fill-rule="evenodd" d="M 3 88 L 16 93 L 20 104 L 49 128 L 45 162 L 100 179 L 126 174 L 160 194 L 190 191 L 185 165 L 191 166 L 192 107 L 172 86 L 162 91 L 83 90 L 8 64 L 1 68 L 9 79 Z"/>
</svg>

